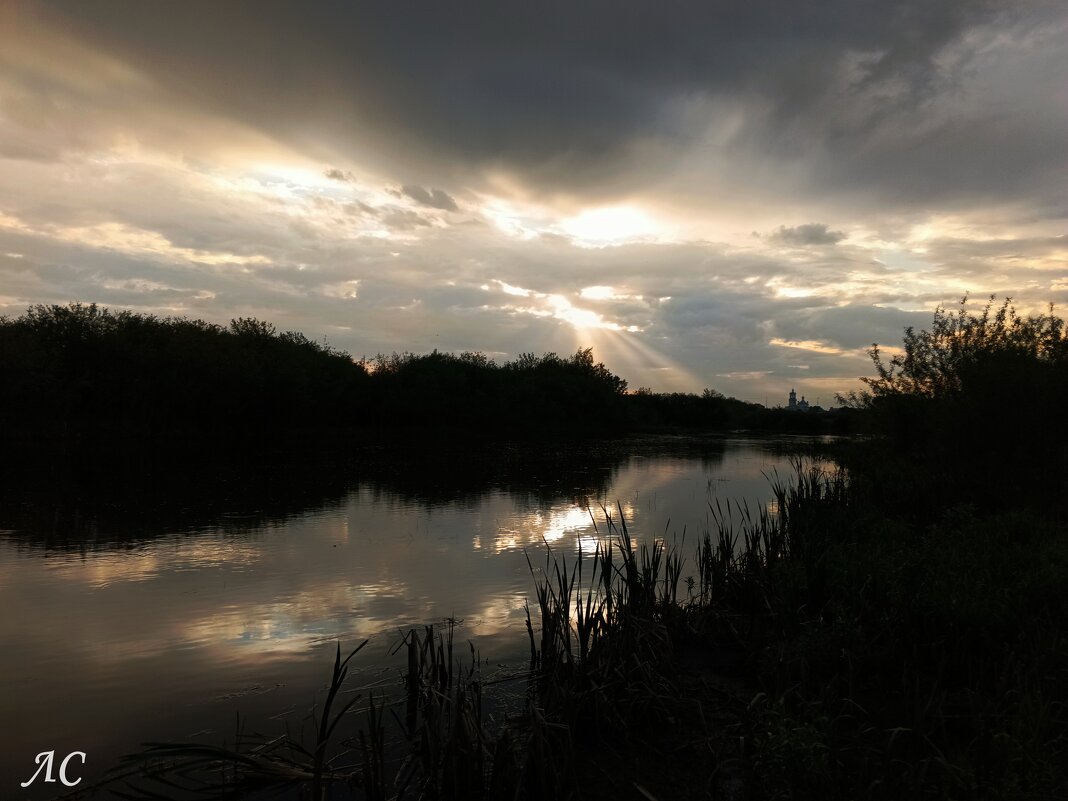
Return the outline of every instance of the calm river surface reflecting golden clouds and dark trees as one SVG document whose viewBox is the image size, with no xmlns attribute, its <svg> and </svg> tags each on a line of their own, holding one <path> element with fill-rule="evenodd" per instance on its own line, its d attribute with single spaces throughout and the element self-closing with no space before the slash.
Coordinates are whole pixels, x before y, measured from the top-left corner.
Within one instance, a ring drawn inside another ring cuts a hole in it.
<svg viewBox="0 0 1068 801">
<path fill-rule="evenodd" d="M 157 487 L 158 505 L 137 491 L 73 513 L 9 500 L 0 798 L 40 797 L 18 782 L 41 751 L 87 752 L 89 781 L 146 740 L 232 741 L 237 712 L 265 734 L 299 727 L 339 640 L 371 639 L 354 686 L 391 688 L 399 632 L 445 617 L 462 621 L 457 639 L 475 645 L 486 670 L 520 670 L 527 554 L 537 565 L 546 543 L 592 550 L 601 504 L 618 503 L 635 538 L 685 532 L 691 555 L 710 501 L 769 502 L 766 475 L 791 472 L 780 445 L 565 447 L 471 482 L 451 475 L 447 459 L 399 480 L 333 471 L 318 482 L 283 465 L 281 478 L 219 482 L 185 505 L 173 497 L 183 487 Z M 296 484 L 329 489 L 280 498 Z M 691 559 L 684 578 L 693 571 Z"/>
</svg>

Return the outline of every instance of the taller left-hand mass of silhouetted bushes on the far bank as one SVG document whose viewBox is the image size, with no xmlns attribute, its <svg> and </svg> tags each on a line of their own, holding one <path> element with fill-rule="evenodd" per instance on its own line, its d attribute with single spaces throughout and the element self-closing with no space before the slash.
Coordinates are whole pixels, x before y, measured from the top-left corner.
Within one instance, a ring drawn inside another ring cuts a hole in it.
<svg viewBox="0 0 1068 801">
<path fill-rule="evenodd" d="M 233 320 L 229 329 L 95 304 L 0 320 L 6 433 L 258 436 L 344 420 L 370 377 L 347 354 Z"/>
</svg>

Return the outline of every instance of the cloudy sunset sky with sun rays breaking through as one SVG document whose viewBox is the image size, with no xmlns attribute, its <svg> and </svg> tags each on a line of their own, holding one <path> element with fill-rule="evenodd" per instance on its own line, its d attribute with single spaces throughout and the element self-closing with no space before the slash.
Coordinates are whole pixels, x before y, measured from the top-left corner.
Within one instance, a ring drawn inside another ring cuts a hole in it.
<svg viewBox="0 0 1068 801">
<path fill-rule="evenodd" d="M 1068 4 L 0 5 L 0 315 L 811 402 L 1068 301 Z"/>
</svg>

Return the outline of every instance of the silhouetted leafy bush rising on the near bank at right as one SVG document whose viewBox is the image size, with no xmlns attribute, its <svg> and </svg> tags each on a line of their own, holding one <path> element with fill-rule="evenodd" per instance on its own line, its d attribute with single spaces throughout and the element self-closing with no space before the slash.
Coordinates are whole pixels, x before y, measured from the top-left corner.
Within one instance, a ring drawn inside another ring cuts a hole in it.
<svg viewBox="0 0 1068 801">
<path fill-rule="evenodd" d="M 904 351 L 847 398 L 879 440 L 865 458 L 875 497 L 937 513 L 947 505 L 1056 504 L 1068 468 L 1068 336 L 1053 314 L 1020 316 L 1006 300 L 979 313 L 939 308 L 930 331 L 906 329 Z M 889 473 L 899 474 L 886 481 Z"/>
</svg>

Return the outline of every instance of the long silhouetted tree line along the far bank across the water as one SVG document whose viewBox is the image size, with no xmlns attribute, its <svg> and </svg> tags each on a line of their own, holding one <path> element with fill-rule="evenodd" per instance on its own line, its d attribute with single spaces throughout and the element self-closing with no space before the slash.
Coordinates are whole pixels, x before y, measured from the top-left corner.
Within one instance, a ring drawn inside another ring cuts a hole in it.
<svg viewBox="0 0 1068 801">
<path fill-rule="evenodd" d="M 0 318 L 0 437 L 61 444 L 190 438 L 336 440 L 367 430 L 482 437 L 737 428 L 818 433 L 848 413 L 768 411 L 703 395 L 627 393 L 595 362 L 524 354 L 354 359 L 257 319 L 221 327 L 96 305 Z"/>
</svg>

